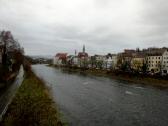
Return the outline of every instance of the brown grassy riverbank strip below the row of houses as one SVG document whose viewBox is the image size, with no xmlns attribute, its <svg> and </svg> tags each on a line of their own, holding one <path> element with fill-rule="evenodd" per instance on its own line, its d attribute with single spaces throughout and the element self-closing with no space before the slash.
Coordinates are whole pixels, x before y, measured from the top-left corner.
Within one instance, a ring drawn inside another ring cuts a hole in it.
<svg viewBox="0 0 168 126">
<path fill-rule="evenodd" d="M 50 67 L 55 67 L 52 65 L 48 65 Z M 137 83 L 137 84 L 143 84 L 143 85 L 152 85 L 161 89 L 168 88 L 168 80 L 164 79 L 157 79 L 154 77 L 149 76 L 140 76 L 140 75 L 133 75 L 129 73 L 121 73 L 121 72 L 112 72 L 108 70 L 100 70 L 100 69 L 80 69 L 80 68 L 68 68 L 68 67 L 59 67 L 64 71 L 69 72 L 78 72 L 83 74 L 90 74 L 95 76 L 103 76 L 103 77 L 109 77 L 116 80 L 123 80 L 128 81 L 130 84 Z"/>
</svg>

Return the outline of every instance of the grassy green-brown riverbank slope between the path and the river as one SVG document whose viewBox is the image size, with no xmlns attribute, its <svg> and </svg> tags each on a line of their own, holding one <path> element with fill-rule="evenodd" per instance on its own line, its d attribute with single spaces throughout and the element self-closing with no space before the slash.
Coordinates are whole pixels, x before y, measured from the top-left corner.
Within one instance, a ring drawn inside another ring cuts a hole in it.
<svg viewBox="0 0 168 126">
<path fill-rule="evenodd" d="M 62 126 L 49 89 L 31 70 L 16 93 L 1 126 Z"/>
</svg>

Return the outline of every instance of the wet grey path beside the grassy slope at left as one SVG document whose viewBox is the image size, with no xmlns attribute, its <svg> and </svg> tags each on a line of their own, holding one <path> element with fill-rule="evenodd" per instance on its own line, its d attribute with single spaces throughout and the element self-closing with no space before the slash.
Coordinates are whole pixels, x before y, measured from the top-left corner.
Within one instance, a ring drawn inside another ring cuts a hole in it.
<svg viewBox="0 0 168 126">
<path fill-rule="evenodd" d="M 5 114 L 8 105 L 12 101 L 13 96 L 16 93 L 16 90 L 19 88 L 20 84 L 23 81 L 23 67 L 20 68 L 19 74 L 17 75 L 14 82 L 8 87 L 0 89 L 0 120 L 2 119 L 2 116 Z"/>
</svg>

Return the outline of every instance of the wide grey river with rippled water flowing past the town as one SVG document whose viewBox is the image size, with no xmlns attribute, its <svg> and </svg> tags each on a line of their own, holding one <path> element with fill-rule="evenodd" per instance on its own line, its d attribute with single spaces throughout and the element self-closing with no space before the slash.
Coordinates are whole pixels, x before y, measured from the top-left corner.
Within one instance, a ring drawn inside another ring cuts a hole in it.
<svg viewBox="0 0 168 126">
<path fill-rule="evenodd" d="M 168 126 L 168 91 L 32 66 L 70 126 Z"/>
</svg>

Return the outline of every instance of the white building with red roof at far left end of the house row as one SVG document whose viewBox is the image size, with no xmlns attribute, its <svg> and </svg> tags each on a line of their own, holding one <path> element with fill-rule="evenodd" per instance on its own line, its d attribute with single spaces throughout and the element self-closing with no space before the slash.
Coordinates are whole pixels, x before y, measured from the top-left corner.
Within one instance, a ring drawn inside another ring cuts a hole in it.
<svg viewBox="0 0 168 126">
<path fill-rule="evenodd" d="M 67 62 L 67 53 L 57 53 L 53 59 L 53 64 L 62 66 Z"/>
</svg>

